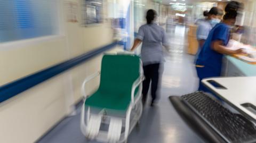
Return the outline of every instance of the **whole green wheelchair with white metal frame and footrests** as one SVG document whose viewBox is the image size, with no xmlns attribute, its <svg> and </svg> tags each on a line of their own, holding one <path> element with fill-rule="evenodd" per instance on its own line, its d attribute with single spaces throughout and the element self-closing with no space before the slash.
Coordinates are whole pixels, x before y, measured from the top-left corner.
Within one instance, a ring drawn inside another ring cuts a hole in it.
<svg viewBox="0 0 256 143">
<path fill-rule="evenodd" d="M 87 139 L 126 142 L 142 114 L 141 66 L 140 58 L 135 55 L 104 55 L 101 72 L 84 80 L 81 130 Z M 85 83 L 98 75 L 101 75 L 98 90 L 86 96 Z"/>
</svg>

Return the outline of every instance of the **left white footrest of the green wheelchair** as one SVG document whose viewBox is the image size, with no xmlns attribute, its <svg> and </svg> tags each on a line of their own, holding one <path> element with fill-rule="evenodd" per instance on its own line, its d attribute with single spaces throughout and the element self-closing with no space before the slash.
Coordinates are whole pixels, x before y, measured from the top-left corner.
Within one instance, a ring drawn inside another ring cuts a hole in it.
<svg viewBox="0 0 256 143">
<path fill-rule="evenodd" d="M 98 136 L 100 130 L 102 115 L 94 115 L 92 114 L 89 119 L 89 123 L 87 126 L 86 137 L 89 139 L 94 139 Z"/>
</svg>

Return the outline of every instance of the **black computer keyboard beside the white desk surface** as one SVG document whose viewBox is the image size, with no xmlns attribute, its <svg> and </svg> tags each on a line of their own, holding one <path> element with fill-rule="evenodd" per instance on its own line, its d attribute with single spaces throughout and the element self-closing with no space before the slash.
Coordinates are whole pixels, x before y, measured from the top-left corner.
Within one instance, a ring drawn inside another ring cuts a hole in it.
<svg viewBox="0 0 256 143">
<path fill-rule="evenodd" d="M 181 96 L 227 142 L 256 142 L 256 128 L 242 115 L 230 112 L 203 92 Z"/>
</svg>

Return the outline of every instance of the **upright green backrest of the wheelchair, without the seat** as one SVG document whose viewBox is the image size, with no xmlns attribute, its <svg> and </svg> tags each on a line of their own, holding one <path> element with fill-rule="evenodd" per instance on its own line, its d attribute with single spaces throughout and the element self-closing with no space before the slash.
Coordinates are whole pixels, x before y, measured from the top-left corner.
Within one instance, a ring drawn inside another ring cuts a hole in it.
<svg viewBox="0 0 256 143">
<path fill-rule="evenodd" d="M 138 56 L 104 55 L 99 91 L 111 95 L 131 95 L 132 84 L 140 75 L 140 64 Z"/>
</svg>

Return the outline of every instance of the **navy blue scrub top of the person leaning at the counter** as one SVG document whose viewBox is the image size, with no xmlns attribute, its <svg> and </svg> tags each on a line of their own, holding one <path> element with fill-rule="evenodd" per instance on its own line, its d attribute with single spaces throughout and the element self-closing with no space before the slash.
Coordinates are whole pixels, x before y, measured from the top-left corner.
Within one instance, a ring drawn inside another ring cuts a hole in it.
<svg viewBox="0 0 256 143">
<path fill-rule="evenodd" d="M 227 46 L 230 38 L 230 27 L 225 23 L 219 23 L 210 31 L 201 52 L 198 55 L 196 65 L 203 65 L 211 68 L 213 72 L 220 73 L 222 66 L 222 56 L 212 49 L 212 43 L 216 40 L 222 40 L 224 46 Z"/>
</svg>

